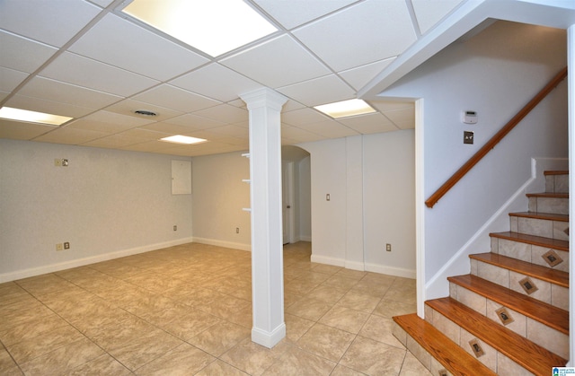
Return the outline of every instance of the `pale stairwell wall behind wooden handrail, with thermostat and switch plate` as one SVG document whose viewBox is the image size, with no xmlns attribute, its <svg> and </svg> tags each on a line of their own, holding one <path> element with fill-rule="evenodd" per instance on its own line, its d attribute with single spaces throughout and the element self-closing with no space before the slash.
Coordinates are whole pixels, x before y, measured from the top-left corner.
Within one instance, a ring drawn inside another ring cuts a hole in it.
<svg viewBox="0 0 575 376">
<path fill-rule="evenodd" d="M 566 66 L 565 31 L 496 22 L 455 43 L 383 95 L 424 99 L 423 185 L 429 197 L 482 144 Z M 465 249 L 491 216 L 531 178 L 531 158 L 567 157 L 566 88 L 562 83 L 433 209 L 424 209 L 427 298 L 447 295 L 442 267 L 468 272 L 468 253 L 489 251 L 489 237 Z M 479 123 L 463 125 L 465 109 Z M 475 133 L 463 144 L 463 131 Z M 525 208 L 526 210 L 526 208 Z M 507 231 L 500 228 L 493 231 Z M 460 257 L 452 259 L 459 252 Z"/>
</svg>

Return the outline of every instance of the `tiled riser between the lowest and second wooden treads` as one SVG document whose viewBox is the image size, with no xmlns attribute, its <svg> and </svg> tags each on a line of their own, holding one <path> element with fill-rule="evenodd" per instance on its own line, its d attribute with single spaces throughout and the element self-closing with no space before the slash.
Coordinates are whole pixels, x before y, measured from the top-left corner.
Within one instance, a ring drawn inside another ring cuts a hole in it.
<svg viewBox="0 0 575 376">
<path fill-rule="evenodd" d="M 429 318 L 428 315 L 430 315 Z M 491 371 L 496 372 L 500 375 L 531 374 L 530 372 L 527 372 L 526 369 L 521 367 L 519 364 L 511 361 L 505 354 L 501 354 L 497 348 L 492 347 L 491 345 L 487 345 L 482 340 L 481 337 L 473 336 L 473 334 L 471 334 L 465 328 L 461 328 L 459 325 L 457 325 L 450 319 L 446 318 L 437 310 L 429 308 L 429 313 L 428 311 L 426 311 L 425 319 L 436 328 L 438 328 L 438 326 L 436 326 L 436 322 L 438 323 L 441 322 L 441 324 L 438 324 L 440 326 L 449 327 L 448 330 L 451 332 L 451 336 L 452 337 L 455 336 L 454 338 L 450 337 L 450 339 L 454 343 L 456 343 L 456 345 L 459 345 L 459 347 L 463 348 L 464 351 L 466 351 L 468 354 L 471 354 L 473 356 L 475 356 L 475 354 L 473 354 L 473 350 L 471 348 L 471 345 L 469 345 L 469 341 L 471 341 L 474 338 L 479 339 L 479 343 L 482 346 L 484 354 L 482 356 L 477 357 L 476 359 L 483 365 L 488 367 Z M 446 333 L 444 332 L 444 334 Z M 517 371 L 519 371 L 519 373 L 517 373 Z"/>
</svg>

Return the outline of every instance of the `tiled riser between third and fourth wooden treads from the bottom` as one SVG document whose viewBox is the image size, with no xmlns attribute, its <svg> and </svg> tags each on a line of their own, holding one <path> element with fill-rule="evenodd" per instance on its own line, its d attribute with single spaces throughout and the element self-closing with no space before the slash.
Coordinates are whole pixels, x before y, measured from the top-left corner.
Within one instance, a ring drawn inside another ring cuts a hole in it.
<svg viewBox="0 0 575 376">
<path fill-rule="evenodd" d="M 541 302 L 546 302 L 562 310 L 569 310 L 569 289 L 557 284 L 529 276 L 537 291 L 527 294 L 519 281 L 527 275 L 514 272 L 504 267 L 487 264 L 482 261 L 471 259 L 471 274 L 486 279 L 494 284 L 499 284 L 517 293 L 523 293 Z"/>
</svg>

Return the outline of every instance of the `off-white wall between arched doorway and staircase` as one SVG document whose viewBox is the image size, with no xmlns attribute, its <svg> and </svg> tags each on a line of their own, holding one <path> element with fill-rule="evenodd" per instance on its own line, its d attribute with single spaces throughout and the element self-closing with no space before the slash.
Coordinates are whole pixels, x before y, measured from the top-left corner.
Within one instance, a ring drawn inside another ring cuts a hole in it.
<svg viewBox="0 0 575 376">
<path fill-rule="evenodd" d="M 311 153 L 312 259 L 415 277 L 413 130 L 300 146 Z"/>
</svg>

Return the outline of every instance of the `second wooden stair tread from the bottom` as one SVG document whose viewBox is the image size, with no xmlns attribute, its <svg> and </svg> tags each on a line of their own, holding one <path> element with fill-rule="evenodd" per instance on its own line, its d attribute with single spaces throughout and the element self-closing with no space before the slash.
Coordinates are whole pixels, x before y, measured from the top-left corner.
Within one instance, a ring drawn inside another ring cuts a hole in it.
<svg viewBox="0 0 575 376">
<path fill-rule="evenodd" d="M 562 366 L 567 363 L 567 360 L 561 356 L 553 354 L 540 345 L 535 345 L 512 330 L 493 325 L 491 319 L 455 299 L 442 298 L 426 302 L 426 304 L 536 375 L 548 374 L 553 366 Z"/>
</svg>

